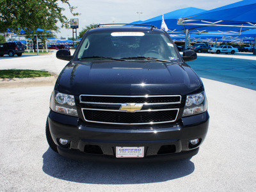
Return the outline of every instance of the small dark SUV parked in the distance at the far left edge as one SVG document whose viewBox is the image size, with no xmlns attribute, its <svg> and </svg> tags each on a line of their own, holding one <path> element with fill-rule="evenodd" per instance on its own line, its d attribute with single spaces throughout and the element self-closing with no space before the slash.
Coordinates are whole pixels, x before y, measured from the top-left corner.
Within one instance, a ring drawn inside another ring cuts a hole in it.
<svg viewBox="0 0 256 192">
<path fill-rule="evenodd" d="M 20 42 L 0 44 L 1 57 L 3 57 L 4 54 L 8 54 L 10 57 L 13 57 L 15 54 L 17 54 L 17 56 L 22 56 L 22 53 L 24 51 L 25 51 L 25 47 Z"/>
</svg>

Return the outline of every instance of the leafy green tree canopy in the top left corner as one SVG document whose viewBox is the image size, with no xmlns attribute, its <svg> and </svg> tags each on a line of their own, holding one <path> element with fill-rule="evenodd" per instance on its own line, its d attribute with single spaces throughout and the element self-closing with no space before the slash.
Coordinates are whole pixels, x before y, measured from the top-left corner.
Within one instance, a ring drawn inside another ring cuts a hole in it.
<svg viewBox="0 0 256 192">
<path fill-rule="evenodd" d="M 20 33 L 23 29 L 27 34 L 36 34 L 36 29 L 58 31 L 57 22 L 61 28 L 69 28 L 69 20 L 61 12 L 65 10 L 58 6 L 58 2 L 68 4 L 70 12 L 76 7 L 70 6 L 68 0 L 0 0 L 0 33 L 10 29 L 13 33 Z"/>
</svg>

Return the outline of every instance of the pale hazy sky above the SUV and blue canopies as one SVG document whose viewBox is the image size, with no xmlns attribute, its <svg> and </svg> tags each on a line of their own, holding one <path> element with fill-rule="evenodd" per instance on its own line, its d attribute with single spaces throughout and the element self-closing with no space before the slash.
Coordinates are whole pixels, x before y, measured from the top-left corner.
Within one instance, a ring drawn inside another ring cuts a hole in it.
<svg viewBox="0 0 256 192">
<path fill-rule="evenodd" d="M 79 19 L 78 36 L 90 24 L 131 23 L 182 8 L 212 10 L 238 1 L 240 0 L 69 0 L 71 6 L 77 7 L 75 12 L 80 13 L 79 16 L 73 16 L 67 4 L 59 3 L 59 6 L 65 8 L 63 15 L 68 19 Z M 72 29 L 61 28 L 56 35 L 58 38 L 72 37 Z"/>
</svg>

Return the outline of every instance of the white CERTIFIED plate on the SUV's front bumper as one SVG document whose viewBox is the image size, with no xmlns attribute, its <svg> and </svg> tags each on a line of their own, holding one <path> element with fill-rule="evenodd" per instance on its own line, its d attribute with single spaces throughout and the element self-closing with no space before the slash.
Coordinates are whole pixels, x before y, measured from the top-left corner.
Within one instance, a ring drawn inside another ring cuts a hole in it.
<svg viewBox="0 0 256 192">
<path fill-rule="evenodd" d="M 116 147 L 116 158 L 144 157 L 144 147 Z"/>
</svg>

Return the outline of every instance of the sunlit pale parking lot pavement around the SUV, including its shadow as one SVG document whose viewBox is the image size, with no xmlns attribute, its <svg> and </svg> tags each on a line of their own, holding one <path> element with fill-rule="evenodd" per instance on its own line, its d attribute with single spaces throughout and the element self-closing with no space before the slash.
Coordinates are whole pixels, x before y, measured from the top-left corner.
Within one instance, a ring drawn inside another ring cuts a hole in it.
<svg viewBox="0 0 256 192">
<path fill-rule="evenodd" d="M 54 54 L 4 57 L 0 69 L 58 74 L 65 63 Z M 202 80 L 211 119 L 199 153 L 191 159 L 150 164 L 95 163 L 59 156 L 45 138 L 53 84 L 18 88 L 0 84 L 0 191 L 255 191 L 256 91 Z"/>
</svg>

